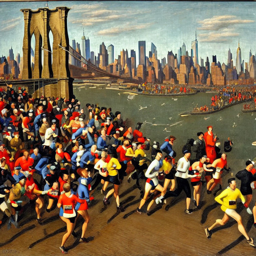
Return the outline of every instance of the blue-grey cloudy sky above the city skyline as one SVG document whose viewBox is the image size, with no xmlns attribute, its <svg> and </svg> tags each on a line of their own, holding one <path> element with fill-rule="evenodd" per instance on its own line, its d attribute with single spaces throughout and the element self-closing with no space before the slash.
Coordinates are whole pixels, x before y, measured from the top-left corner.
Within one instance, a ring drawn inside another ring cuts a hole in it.
<svg viewBox="0 0 256 256">
<path fill-rule="evenodd" d="M 22 57 L 24 19 L 20 9 L 45 7 L 42 2 L 0 2 L 0 56 Z M 122 49 L 134 49 L 138 64 L 138 41 L 146 41 L 146 55 L 151 42 L 157 48 L 157 57 L 166 57 L 168 51 L 177 53 L 185 42 L 190 55 L 191 41 L 197 31 L 198 57 L 212 62 L 227 63 L 228 49 L 235 65 L 238 40 L 242 60 L 249 60 L 249 51 L 256 53 L 255 2 L 189 2 L 189 1 L 49 1 L 50 9 L 58 6 L 71 8 L 68 13 L 68 35 L 81 44 L 83 28 L 90 39 L 90 50 L 96 56 L 104 42 L 114 45 L 115 58 Z M 32 42 L 33 45 L 33 42 Z M 80 45 L 81 47 L 81 45 Z"/>
</svg>

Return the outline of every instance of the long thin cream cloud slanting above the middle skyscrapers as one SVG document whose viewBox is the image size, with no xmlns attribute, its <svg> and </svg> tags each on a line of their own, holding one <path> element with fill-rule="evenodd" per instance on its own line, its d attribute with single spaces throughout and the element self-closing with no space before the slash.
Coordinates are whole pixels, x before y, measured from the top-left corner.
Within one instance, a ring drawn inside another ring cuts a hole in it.
<svg viewBox="0 0 256 256">
<path fill-rule="evenodd" d="M 152 23 L 143 23 L 143 24 L 137 24 L 137 25 L 131 25 L 130 23 L 126 23 L 122 26 L 100 30 L 97 32 L 97 34 L 101 36 L 102 35 L 113 36 L 113 35 L 120 34 L 122 32 L 130 32 L 130 31 L 144 29 L 146 27 L 149 27 L 150 25 L 152 25 Z"/>
</svg>

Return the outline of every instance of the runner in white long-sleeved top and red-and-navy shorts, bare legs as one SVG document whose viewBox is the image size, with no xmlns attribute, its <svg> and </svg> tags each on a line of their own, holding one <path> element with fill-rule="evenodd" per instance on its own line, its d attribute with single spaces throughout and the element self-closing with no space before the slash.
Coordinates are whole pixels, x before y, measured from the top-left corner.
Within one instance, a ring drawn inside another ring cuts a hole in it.
<svg viewBox="0 0 256 256">
<path fill-rule="evenodd" d="M 158 153 L 156 155 L 156 158 L 154 161 L 151 162 L 151 164 L 148 166 L 148 169 L 145 173 L 145 176 L 148 178 L 145 184 L 145 194 L 143 198 L 140 201 L 140 205 L 137 208 L 137 212 L 141 214 L 141 207 L 145 204 L 146 199 L 150 193 L 150 190 L 157 190 L 163 193 L 164 188 L 158 183 L 157 176 L 159 174 L 160 169 L 160 163 L 159 161 L 162 158 L 162 152 L 158 150 Z"/>
</svg>

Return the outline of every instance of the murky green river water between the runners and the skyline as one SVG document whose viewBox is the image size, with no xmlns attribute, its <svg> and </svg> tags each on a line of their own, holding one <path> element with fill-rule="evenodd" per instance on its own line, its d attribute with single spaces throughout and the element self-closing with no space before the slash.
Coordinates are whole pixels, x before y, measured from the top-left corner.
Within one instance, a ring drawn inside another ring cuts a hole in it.
<svg viewBox="0 0 256 256">
<path fill-rule="evenodd" d="M 112 112 L 120 111 L 123 120 L 128 119 L 129 124 L 134 129 L 137 122 L 149 122 L 158 124 L 144 123 L 140 129 L 145 136 L 156 140 L 160 144 L 169 135 L 177 138 L 174 142 L 173 149 L 177 152 L 177 158 L 182 156 L 181 149 L 188 138 L 197 139 L 196 133 L 199 131 L 206 132 L 208 125 L 213 126 L 213 133 L 217 134 L 218 142 L 221 143 L 221 152 L 224 152 L 224 141 L 231 138 L 234 145 L 232 151 L 227 153 L 228 165 L 233 172 L 245 168 L 245 162 L 248 159 L 256 157 L 255 146 L 252 142 L 256 140 L 255 124 L 256 113 L 242 113 L 243 104 L 238 104 L 227 108 L 223 111 L 208 114 L 180 117 L 179 113 L 191 111 L 196 104 L 198 106 L 210 104 L 211 97 L 214 93 L 198 93 L 191 96 L 181 97 L 157 97 L 135 95 L 133 100 L 127 100 L 128 94 L 119 90 L 82 88 L 76 87 L 74 94 L 81 101 L 82 107 L 86 103 L 98 103 L 100 107 L 111 107 Z M 120 95 L 119 95 L 120 93 Z M 178 100 L 173 100 L 174 98 Z M 139 110 L 139 106 L 147 107 Z M 204 117 L 209 117 L 207 120 Z M 170 125 L 183 121 L 177 125 Z M 235 125 L 234 125 L 235 123 Z M 163 125 L 159 125 L 163 124 Z M 233 127 L 234 126 L 234 127 Z M 166 129 L 166 131 L 164 131 Z"/>
</svg>

